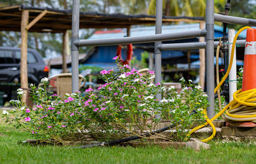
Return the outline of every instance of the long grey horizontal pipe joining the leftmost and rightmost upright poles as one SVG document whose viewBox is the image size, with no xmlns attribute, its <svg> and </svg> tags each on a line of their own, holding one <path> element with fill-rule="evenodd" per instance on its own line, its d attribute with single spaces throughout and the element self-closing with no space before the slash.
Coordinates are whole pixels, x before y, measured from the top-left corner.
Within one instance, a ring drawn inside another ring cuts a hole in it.
<svg viewBox="0 0 256 164">
<path fill-rule="evenodd" d="M 111 39 L 99 39 L 99 40 L 77 40 L 74 45 L 77 47 L 84 46 L 102 46 L 102 45 L 125 45 L 129 43 L 150 43 L 154 41 L 166 41 L 166 40 L 183 40 L 187 38 L 195 38 L 198 36 L 205 36 L 205 29 L 195 30 L 195 31 L 185 31 L 180 33 L 170 33 L 170 34 L 154 34 L 148 36 L 133 36 L 124 38 L 111 38 Z"/>
</svg>

